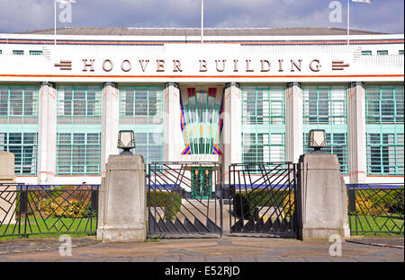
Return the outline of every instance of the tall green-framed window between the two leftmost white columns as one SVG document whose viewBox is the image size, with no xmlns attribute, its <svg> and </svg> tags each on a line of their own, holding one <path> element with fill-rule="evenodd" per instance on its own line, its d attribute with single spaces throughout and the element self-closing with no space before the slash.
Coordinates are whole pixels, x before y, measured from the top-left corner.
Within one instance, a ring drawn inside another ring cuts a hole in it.
<svg viewBox="0 0 405 280">
<path fill-rule="evenodd" d="M 99 85 L 58 86 L 59 175 L 100 174 L 101 92 Z"/>
</svg>

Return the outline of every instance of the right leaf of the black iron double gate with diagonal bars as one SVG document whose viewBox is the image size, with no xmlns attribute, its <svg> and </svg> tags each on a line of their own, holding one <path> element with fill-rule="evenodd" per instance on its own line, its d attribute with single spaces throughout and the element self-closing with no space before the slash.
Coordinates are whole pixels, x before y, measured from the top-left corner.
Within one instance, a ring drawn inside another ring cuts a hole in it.
<svg viewBox="0 0 405 280">
<path fill-rule="evenodd" d="M 229 166 L 230 232 L 296 237 L 296 163 Z"/>
</svg>

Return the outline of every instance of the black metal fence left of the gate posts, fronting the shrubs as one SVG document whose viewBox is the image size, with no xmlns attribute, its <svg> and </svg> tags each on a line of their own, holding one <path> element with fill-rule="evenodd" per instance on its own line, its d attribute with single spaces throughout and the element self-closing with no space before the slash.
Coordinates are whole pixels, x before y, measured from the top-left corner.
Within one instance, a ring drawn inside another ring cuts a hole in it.
<svg viewBox="0 0 405 280">
<path fill-rule="evenodd" d="M 97 229 L 99 185 L 0 184 L 0 238 Z"/>
</svg>

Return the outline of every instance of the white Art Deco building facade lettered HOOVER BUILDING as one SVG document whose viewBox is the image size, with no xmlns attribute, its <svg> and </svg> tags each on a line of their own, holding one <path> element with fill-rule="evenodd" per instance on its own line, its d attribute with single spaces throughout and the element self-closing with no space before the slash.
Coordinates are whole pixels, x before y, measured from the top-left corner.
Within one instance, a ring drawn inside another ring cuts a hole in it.
<svg viewBox="0 0 405 280">
<path fill-rule="evenodd" d="M 226 177 L 298 162 L 320 128 L 347 183 L 403 182 L 403 34 L 248 31 L 0 34 L 0 150 L 17 181 L 100 183 L 121 129 L 146 163 L 221 162 Z"/>
</svg>

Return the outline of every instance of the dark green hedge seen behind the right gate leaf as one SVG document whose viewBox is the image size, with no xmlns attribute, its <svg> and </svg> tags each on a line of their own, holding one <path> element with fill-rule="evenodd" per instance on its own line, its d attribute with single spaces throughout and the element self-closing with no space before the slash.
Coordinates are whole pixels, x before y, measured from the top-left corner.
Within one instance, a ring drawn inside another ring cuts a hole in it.
<svg viewBox="0 0 405 280">
<path fill-rule="evenodd" d="M 293 195 L 292 190 L 254 190 L 247 193 L 237 192 L 235 193 L 233 200 L 235 214 L 242 216 L 243 207 L 243 218 L 250 219 L 255 216 L 255 208 L 257 207 L 284 207 L 284 200 L 288 197 L 287 193 L 290 191 Z M 270 195 L 272 197 L 270 197 Z"/>
</svg>

